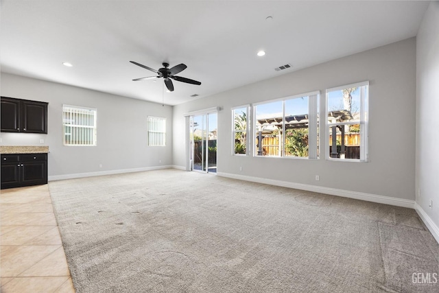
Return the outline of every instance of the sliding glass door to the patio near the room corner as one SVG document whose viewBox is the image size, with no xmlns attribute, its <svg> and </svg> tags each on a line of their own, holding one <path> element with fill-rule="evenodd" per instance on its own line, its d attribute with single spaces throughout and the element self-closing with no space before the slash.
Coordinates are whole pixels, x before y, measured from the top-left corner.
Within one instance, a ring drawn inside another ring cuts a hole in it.
<svg viewBox="0 0 439 293">
<path fill-rule="evenodd" d="M 217 113 L 192 115 L 189 123 L 191 169 L 217 172 Z"/>
</svg>

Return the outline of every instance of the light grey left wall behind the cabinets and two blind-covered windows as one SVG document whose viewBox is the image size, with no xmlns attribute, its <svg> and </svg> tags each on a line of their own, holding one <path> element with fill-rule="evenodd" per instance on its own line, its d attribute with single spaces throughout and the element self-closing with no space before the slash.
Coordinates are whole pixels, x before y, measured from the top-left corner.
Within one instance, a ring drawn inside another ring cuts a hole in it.
<svg viewBox="0 0 439 293">
<path fill-rule="evenodd" d="M 1 132 L 1 145 L 49 145 L 49 180 L 172 163 L 172 107 L 1 73 L 1 95 L 49 102 L 48 134 Z M 97 146 L 64 146 L 62 104 L 97 108 Z M 167 119 L 167 146 L 147 146 L 147 116 Z M 161 161 L 161 163 L 159 163 Z M 102 164 L 102 168 L 99 168 Z"/>
</svg>

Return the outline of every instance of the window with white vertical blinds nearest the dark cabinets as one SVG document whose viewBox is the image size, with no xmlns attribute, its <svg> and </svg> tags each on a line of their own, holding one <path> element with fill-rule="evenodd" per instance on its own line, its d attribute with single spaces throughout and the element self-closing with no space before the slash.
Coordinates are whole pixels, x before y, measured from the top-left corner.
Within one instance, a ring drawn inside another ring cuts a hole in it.
<svg viewBox="0 0 439 293">
<path fill-rule="evenodd" d="M 94 108 L 62 105 L 64 145 L 96 145 Z"/>
</svg>

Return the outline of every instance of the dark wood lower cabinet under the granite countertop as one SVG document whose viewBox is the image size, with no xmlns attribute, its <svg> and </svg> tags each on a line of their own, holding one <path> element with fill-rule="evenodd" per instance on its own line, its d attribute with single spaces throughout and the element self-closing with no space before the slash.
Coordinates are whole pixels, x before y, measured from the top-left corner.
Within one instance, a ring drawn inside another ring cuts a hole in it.
<svg viewBox="0 0 439 293">
<path fill-rule="evenodd" d="M 47 184 L 47 154 L 2 154 L 1 189 Z"/>
</svg>

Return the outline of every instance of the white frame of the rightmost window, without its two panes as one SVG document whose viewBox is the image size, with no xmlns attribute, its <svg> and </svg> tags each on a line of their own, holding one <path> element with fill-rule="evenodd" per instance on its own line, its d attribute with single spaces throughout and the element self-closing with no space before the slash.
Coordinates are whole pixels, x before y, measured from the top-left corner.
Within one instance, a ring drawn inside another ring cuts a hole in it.
<svg viewBox="0 0 439 293">
<path fill-rule="evenodd" d="M 328 117 L 326 117 L 325 124 L 325 139 L 328 143 L 326 147 L 326 159 L 327 161 L 337 161 L 337 162 L 360 162 L 366 163 L 369 161 L 369 152 L 368 152 L 368 126 L 369 126 L 369 81 L 366 80 L 364 82 L 355 82 L 353 84 L 345 84 L 342 86 L 335 86 L 331 89 L 326 89 L 326 101 L 325 101 L 325 115 L 328 115 L 329 111 L 329 93 L 333 91 L 341 91 L 342 89 L 349 89 L 353 87 L 359 88 L 359 121 L 345 121 L 345 122 L 329 122 Z M 329 131 L 330 127 L 333 126 L 344 126 L 344 125 L 358 125 L 359 124 L 359 134 L 360 134 L 360 145 L 359 145 L 359 159 L 344 159 L 344 158 L 332 158 L 329 152 L 329 148 L 331 143 L 329 143 L 329 137 L 331 136 L 331 131 Z"/>
</svg>

